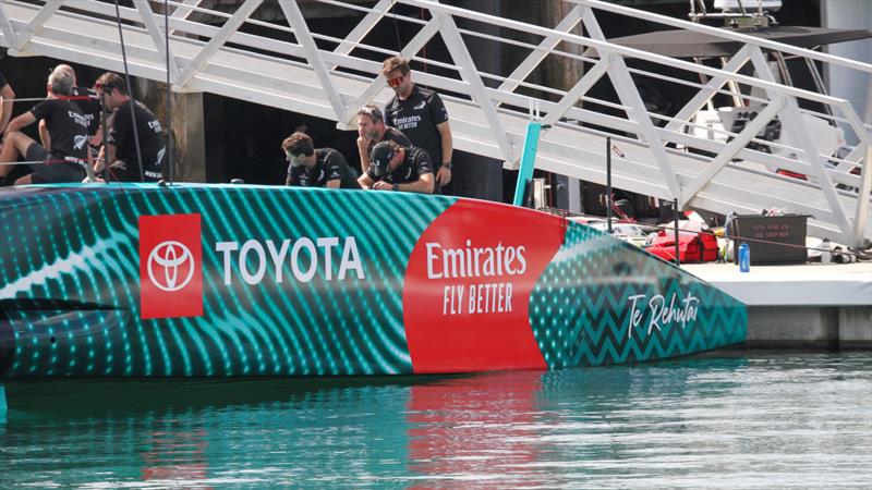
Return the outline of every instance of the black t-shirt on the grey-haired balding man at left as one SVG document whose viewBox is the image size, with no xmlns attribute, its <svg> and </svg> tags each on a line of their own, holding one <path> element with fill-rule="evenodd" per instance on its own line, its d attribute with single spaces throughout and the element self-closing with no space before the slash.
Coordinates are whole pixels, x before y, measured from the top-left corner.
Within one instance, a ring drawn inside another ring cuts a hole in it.
<svg viewBox="0 0 872 490">
<path fill-rule="evenodd" d="M 46 120 L 52 156 L 87 159 L 88 124 L 78 106 L 69 100 L 47 99 L 34 106 L 31 113 L 37 121 Z"/>
</svg>

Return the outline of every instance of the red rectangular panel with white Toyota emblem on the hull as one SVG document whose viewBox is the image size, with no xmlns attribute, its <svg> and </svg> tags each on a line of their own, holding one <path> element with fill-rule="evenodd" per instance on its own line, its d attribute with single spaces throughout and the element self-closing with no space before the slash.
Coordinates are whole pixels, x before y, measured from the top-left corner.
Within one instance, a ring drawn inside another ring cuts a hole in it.
<svg viewBox="0 0 872 490">
<path fill-rule="evenodd" d="M 140 217 L 142 318 L 203 315 L 199 215 Z"/>
</svg>

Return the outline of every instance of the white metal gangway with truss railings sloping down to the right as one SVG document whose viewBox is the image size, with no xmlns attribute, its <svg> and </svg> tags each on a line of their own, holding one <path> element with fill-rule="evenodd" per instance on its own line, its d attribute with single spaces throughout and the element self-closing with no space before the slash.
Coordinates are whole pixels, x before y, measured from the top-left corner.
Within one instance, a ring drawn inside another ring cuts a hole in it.
<svg viewBox="0 0 872 490">
<path fill-rule="evenodd" d="M 618 188 L 720 213 L 779 208 L 811 215 L 812 235 L 851 245 L 872 238 L 872 127 L 846 99 L 780 83 L 767 56 L 837 66 L 867 86 L 872 86 L 872 65 L 603 1 L 569 2 L 572 8 L 553 26 L 436 0 L 245 0 L 231 12 L 216 8 L 227 2 L 215 0 L 132 0 L 132 8 L 119 11 L 132 75 L 164 82 L 169 71 L 174 90 L 214 93 L 335 120 L 340 128 L 354 127 L 362 105 L 384 103 L 391 96 L 380 61 L 398 51 L 368 45 L 367 34 L 393 29 L 396 23 L 412 25 L 416 34 L 399 53 L 433 68 L 415 71 L 415 81 L 444 95 L 458 149 L 517 168 L 535 106 L 549 126 L 538 145 L 538 169 L 605 183 L 605 142 L 611 137 Z M 313 7 L 361 20 L 344 36 L 332 26 L 318 30 L 304 15 Z M 258 8 L 277 10 L 280 22 L 257 20 Z M 722 66 L 710 66 L 619 46 L 606 40 L 597 22 L 605 13 L 722 37 L 741 48 Z M 47 56 L 120 72 L 118 19 L 111 0 L 1 0 L 0 46 L 14 57 Z M 519 40 L 524 36 L 537 41 Z M 423 50 L 437 38 L 448 61 Z M 473 41 L 523 56 L 502 66 L 508 73 L 491 73 L 482 69 L 486 53 L 469 48 Z M 637 68 L 640 59 L 657 70 Z M 566 74 L 573 81 L 568 89 L 532 81 L 546 60 L 578 66 Z M 746 65 L 752 74 L 743 71 Z M 642 77 L 695 95 L 671 113 L 654 113 L 637 87 Z M 590 90 L 597 83 L 610 84 L 616 97 L 594 97 Z M 741 131 L 698 121 L 694 114 L 713 97 L 737 96 L 737 86 L 749 88 L 741 93 L 743 103 L 760 109 Z M 859 144 L 843 158 L 824 155 L 812 137 L 814 128 L 803 123 L 810 117 L 838 124 Z M 776 118 L 788 136 L 777 145 L 759 136 Z M 859 174 L 851 173 L 858 169 Z"/>
</svg>

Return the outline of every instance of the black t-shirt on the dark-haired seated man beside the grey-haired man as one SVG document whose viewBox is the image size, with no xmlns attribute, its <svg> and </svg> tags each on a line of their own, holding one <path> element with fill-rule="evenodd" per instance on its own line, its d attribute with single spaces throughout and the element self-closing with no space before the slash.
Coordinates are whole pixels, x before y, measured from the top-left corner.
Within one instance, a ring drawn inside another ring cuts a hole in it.
<svg viewBox="0 0 872 490">
<path fill-rule="evenodd" d="M 167 152 L 164 135 L 160 134 L 160 122 L 142 102 L 134 102 L 134 107 L 136 133 L 140 136 L 140 149 L 143 155 L 143 175 L 145 182 L 157 182 L 164 179 L 164 157 Z M 116 159 L 124 162 L 124 169 L 129 174 L 138 175 L 140 159 L 136 157 L 130 102 L 124 102 L 114 110 L 110 127 L 106 140 L 116 145 Z"/>
</svg>

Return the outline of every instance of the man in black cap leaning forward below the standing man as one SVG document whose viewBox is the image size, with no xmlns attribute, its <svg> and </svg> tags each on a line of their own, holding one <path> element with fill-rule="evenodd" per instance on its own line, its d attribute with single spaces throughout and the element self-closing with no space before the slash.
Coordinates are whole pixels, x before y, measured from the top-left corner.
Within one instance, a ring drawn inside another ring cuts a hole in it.
<svg viewBox="0 0 872 490">
<path fill-rule="evenodd" d="M 433 167 L 421 148 L 382 142 L 370 154 L 370 168 L 358 179 L 363 188 L 433 194 Z"/>
</svg>

